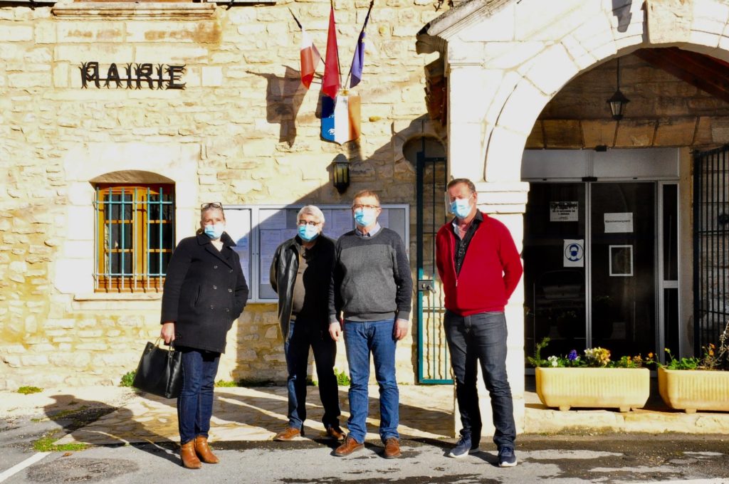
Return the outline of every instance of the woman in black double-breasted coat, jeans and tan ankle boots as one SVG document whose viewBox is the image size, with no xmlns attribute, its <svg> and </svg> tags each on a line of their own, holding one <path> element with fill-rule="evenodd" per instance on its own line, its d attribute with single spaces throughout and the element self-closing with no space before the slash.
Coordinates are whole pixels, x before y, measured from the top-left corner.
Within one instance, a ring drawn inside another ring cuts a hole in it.
<svg viewBox="0 0 729 484">
<path fill-rule="evenodd" d="M 222 205 L 206 203 L 197 235 L 180 241 L 167 268 L 160 336 L 182 351 L 177 421 L 180 457 L 188 469 L 219 461 L 208 447 L 215 375 L 227 332 L 248 300 L 234 246 L 225 233 Z"/>
</svg>

